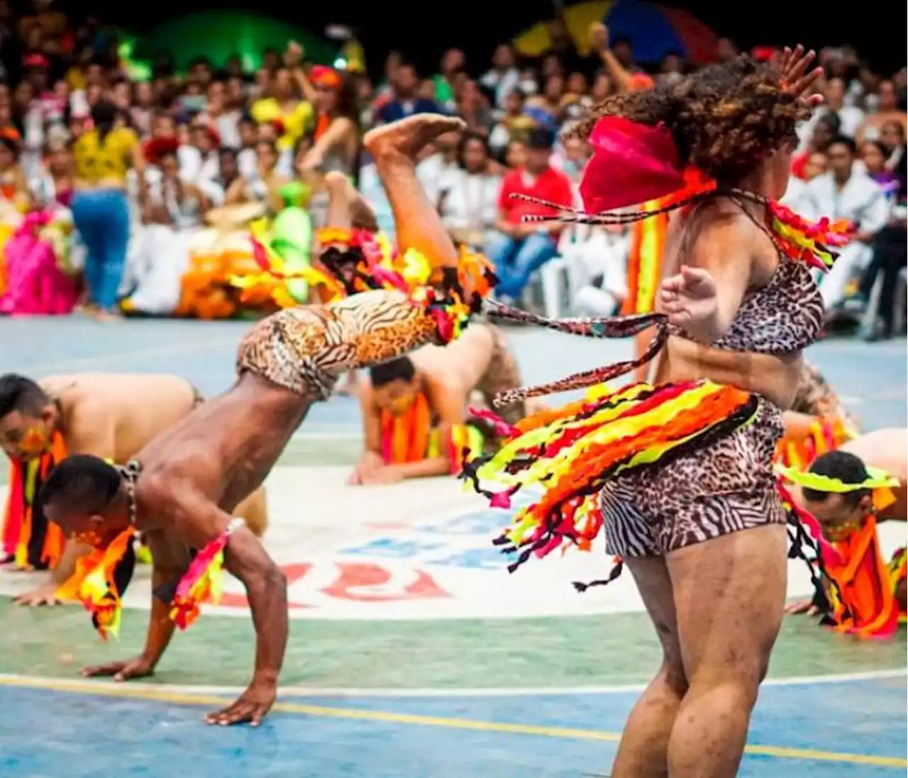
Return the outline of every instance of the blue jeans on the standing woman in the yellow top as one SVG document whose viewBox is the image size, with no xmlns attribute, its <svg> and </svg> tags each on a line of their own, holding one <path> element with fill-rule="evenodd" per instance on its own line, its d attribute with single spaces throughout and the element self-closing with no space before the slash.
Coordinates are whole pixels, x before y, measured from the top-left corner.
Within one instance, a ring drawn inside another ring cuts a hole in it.
<svg viewBox="0 0 908 778">
<path fill-rule="evenodd" d="M 85 283 L 89 299 L 102 310 L 114 310 L 129 244 L 126 193 L 119 189 L 76 192 L 73 222 L 88 250 Z"/>
</svg>

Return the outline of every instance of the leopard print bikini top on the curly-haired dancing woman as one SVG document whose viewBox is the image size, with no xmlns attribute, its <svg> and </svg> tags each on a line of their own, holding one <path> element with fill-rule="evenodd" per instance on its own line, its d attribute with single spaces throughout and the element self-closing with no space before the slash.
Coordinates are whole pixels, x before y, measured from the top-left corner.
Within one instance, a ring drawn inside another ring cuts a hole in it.
<svg viewBox="0 0 908 778">
<path fill-rule="evenodd" d="M 779 264 L 765 286 L 745 297 L 731 328 L 710 345 L 726 351 L 777 356 L 804 350 L 817 339 L 824 324 L 823 298 L 813 273 L 804 262 L 789 259 L 773 232 L 743 205 L 741 210 L 773 241 Z M 694 340 L 677 326 L 669 327 L 669 332 Z"/>
</svg>

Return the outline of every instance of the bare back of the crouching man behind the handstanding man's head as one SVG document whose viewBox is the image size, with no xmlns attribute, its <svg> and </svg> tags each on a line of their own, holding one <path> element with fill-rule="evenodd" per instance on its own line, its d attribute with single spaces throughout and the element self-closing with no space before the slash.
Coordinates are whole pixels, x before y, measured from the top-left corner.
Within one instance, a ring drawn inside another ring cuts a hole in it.
<svg viewBox="0 0 908 778">
<path fill-rule="evenodd" d="M 183 419 L 194 400 L 192 385 L 169 375 L 79 373 L 52 376 L 40 384 L 60 405 L 66 448 L 85 451 L 84 433 L 96 437 L 98 426 L 109 427 L 109 453 L 117 462 Z"/>
</svg>

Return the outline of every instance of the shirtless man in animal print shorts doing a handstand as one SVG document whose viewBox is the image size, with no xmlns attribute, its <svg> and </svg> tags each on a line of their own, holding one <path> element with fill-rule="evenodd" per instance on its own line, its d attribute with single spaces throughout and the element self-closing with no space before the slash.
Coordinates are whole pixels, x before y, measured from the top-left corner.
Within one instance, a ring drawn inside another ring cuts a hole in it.
<svg viewBox="0 0 908 778">
<path fill-rule="evenodd" d="M 400 246 L 420 251 L 458 281 L 458 252 L 416 177 L 419 150 L 459 119 L 419 114 L 364 139 L 388 193 Z M 350 212 L 351 209 L 347 209 Z M 350 227 L 348 222 L 346 225 Z M 470 297 L 468 302 L 471 302 Z M 191 549 L 222 540 L 224 566 L 247 591 L 256 633 L 252 681 L 209 724 L 258 724 L 274 704 L 287 644 L 287 581 L 248 527 L 234 518 L 259 487 L 312 403 L 328 399 L 342 373 L 444 342 L 435 311 L 401 291 L 366 291 L 329 305 L 281 310 L 258 322 L 240 345 L 232 389 L 194 409 L 141 448 L 124 468 L 71 457 L 54 468 L 40 498 L 67 536 L 107 547 L 130 526 L 153 554 L 153 588 L 185 575 Z M 119 680 L 153 673 L 173 635 L 171 604 L 153 596 L 141 655 L 88 668 Z"/>
</svg>

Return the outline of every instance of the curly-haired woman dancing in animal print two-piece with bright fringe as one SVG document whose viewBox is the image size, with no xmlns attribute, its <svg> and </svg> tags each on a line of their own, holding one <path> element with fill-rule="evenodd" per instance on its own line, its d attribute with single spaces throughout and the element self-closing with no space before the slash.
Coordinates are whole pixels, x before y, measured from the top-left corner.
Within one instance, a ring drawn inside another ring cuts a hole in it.
<svg viewBox="0 0 908 778">
<path fill-rule="evenodd" d="M 687 165 L 712 181 L 666 206 L 683 210 L 666 236 L 661 312 L 535 318 L 587 337 L 655 324 L 645 358 L 659 354 L 656 386 L 524 419 L 497 455 L 465 473 L 499 506 L 528 483 L 545 487 L 502 538 L 522 549 L 512 568 L 565 540 L 588 547 L 605 523 L 608 550 L 637 582 L 664 659 L 630 715 L 613 778 L 735 775 L 782 620 L 786 515 L 771 463 L 801 352 L 823 324 L 808 261 L 831 263 L 824 243 L 843 241 L 774 202 L 785 193 L 795 125 L 817 102 L 805 94 L 818 72 L 804 75 L 812 54 L 802 54 L 786 52 L 781 74 L 742 57 L 616 95 L 582 123 L 594 157 L 581 192 L 597 215 L 568 221 L 652 215 L 609 211 L 682 190 Z M 499 401 L 589 386 L 640 361 Z M 493 481 L 497 493 L 483 488 Z"/>
</svg>

